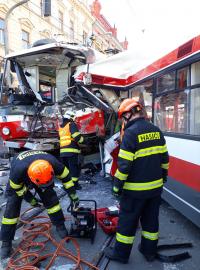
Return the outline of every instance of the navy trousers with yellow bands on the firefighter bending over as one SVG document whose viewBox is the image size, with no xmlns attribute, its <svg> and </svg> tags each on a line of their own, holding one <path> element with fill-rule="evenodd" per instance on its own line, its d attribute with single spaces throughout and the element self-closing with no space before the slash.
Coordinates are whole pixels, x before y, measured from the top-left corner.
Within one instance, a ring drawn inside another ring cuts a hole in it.
<svg viewBox="0 0 200 270">
<path fill-rule="evenodd" d="M 54 225 L 60 225 L 64 223 L 64 215 L 59 204 L 59 200 L 56 192 L 52 187 L 48 187 L 44 190 L 37 188 L 44 207 L 47 209 L 47 213 Z M 14 239 L 18 218 L 20 215 L 22 196 L 19 197 L 13 191 L 8 196 L 6 209 L 2 218 L 1 226 L 1 240 L 11 241 Z"/>
</svg>

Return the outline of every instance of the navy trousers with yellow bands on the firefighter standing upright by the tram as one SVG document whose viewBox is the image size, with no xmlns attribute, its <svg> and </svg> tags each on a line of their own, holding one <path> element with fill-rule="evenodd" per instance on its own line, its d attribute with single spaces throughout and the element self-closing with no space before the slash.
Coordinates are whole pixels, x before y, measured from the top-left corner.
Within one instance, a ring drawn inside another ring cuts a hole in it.
<svg viewBox="0 0 200 270">
<path fill-rule="evenodd" d="M 147 255 L 156 253 L 160 202 L 160 196 L 149 199 L 136 199 L 127 194 L 122 195 L 114 249 L 117 256 L 125 259 L 129 258 L 139 220 L 142 226 L 142 252 Z"/>
</svg>

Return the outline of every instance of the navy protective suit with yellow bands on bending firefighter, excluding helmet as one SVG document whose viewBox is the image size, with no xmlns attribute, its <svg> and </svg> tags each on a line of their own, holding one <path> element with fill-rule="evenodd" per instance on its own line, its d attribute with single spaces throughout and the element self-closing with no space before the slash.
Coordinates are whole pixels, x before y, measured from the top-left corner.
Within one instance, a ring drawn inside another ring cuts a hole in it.
<svg viewBox="0 0 200 270">
<path fill-rule="evenodd" d="M 53 189 L 53 183 L 46 188 L 41 188 L 32 183 L 28 177 L 27 171 L 29 165 L 38 159 L 46 160 L 52 165 L 55 176 L 62 181 L 70 198 L 75 198 L 76 196 L 76 190 L 71 180 L 69 170 L 54 156 L 43 151 L 35 150 L 20 153 L 11 163 L 9 186 L 12 192 L 8 196 L 6 209 L 2 218 L 0 234 L 2 241 L 14 239 L 22 199 L 28 189 L 34 188 L 38 193 L 54 225 L 64 224 L 64 215 L 57 194 Z"/>
</svg>

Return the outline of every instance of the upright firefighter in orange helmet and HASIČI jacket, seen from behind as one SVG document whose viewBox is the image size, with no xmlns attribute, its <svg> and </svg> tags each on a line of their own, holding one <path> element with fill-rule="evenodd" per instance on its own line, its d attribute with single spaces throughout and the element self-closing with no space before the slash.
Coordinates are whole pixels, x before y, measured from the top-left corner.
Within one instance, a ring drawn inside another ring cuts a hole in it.
<svg viewBox="0 0 200 270">
<path fill-rule="evenodd" d="M 159 207 L 169 157 L 162 132 L 145 115 L 142 105 L 130 98 L 118 110 L 118 117 L 125 121 L 113 183 L 113 193 L 120 196 L 120 214 L 115 246 L 104 252 L 121 263 L 128 263 L 139 219 L 139 251 L 147 261 L 153 261 L 157 252 Z"/>
</svg>

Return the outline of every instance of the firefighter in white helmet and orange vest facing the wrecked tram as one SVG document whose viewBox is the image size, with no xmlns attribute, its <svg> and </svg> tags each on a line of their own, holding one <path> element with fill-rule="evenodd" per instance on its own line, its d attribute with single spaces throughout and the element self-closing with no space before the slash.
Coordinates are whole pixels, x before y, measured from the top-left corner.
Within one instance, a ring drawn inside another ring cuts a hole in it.
<svg viewBox="0 0 200 270">
<path fill-rule="evenodd" d="M 79 155 L 81 153 L 80 144 L 84 139 L 73 121 L 74 115 L 65 113 L 59 128 L 60 137 L 60 157 L 63 163 L 69 168 L 72 181 L 76 189 L 81 189 L 79 184 L 80 165 Z"/>
</svg>

